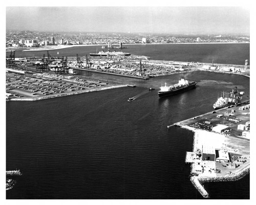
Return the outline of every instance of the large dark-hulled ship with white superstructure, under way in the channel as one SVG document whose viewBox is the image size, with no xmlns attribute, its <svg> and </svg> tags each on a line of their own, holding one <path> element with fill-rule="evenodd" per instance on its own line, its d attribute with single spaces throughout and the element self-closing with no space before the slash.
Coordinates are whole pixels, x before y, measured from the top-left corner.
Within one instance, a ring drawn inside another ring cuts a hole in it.
<svg viewBox="0 0 256 205">
<path fill-rule="evenodd" d="M 195 88 L 197 82 L 189 82 L 187 80 L 184 80 L 184 78 L 181 78 L 179 80 L 179 83 L 167 86 L 167 83 L 165 83 L 164 86 L 160 87 L 160 90 L 158 91 L 159 98 L 167 97 L 167 96 L 173 96 L 176 94 L 180 94 L 183 92 L 186 92 L 187 90 Z"/>
</svg>

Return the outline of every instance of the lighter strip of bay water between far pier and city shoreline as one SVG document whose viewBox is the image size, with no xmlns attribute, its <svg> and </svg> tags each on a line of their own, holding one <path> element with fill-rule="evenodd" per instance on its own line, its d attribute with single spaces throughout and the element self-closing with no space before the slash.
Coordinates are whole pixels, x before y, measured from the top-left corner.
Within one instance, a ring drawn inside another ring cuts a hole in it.
<svg viewBox="0 0 256 205">
<path fill-rule="evenodd" d="M 125 45 L 123 52 L 133 55 L 144 55 L 152 60 L 176 60 L 188 62 L 203 62 L 243 65 L 245 60 L 250 60 L 250 43 L 221 43 L 221 44 L 141 44 Z M 73 47 L 68 49 L 49 51 L 51 56 L 76 56 L 80 57 L 101 51 L 100 45 L 87 47 Z M 104 49 L 107 51 L 107 49 Z M 120 50 L 117 50 L 120 51 Z M 59 53 L 59 54 L 57 54 Z M 47 56 L 46 51 L 22 52 L 16 50 L 16 57 Z M 250 61 L 249 61 L 250 62 Z"/>
</svg>

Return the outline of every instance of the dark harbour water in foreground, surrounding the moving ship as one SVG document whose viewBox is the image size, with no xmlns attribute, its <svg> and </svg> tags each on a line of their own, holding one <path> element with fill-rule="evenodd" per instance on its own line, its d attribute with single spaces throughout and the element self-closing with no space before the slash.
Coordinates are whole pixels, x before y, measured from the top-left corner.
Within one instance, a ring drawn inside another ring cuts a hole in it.
<svg viewBox="0 0 256 205">
<path fill-rule="evenodd" d="M 197 88 L 158 98 L 161 83 L 181 77 Z M 193 132 L 167 125 L 213 110 L 218 93 L 234 86 L 248 99 L 249 79 L 208 72 L 109 78 L 137 87 L 6 102 L 6 168 L 23 173 L 7 199 L 202 199 L 184 163 Z M 249 175 L 206 186 L 212 199 L 249 198 Z"/>
</svg>

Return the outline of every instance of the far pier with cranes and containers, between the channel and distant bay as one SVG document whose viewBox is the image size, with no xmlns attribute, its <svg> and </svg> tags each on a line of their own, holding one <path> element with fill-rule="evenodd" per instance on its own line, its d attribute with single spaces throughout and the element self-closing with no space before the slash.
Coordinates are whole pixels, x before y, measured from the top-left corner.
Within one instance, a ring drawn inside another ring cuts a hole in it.
<svg viewBox="0 0 256 205">
<path fill-rule="evenodd" d="M 121 52 L 120 52 L 121 53 Z M 42 57 L 15 58 L 15 51 L 7 52 L 7 65 L 17 65 L 20 68 L 35 68 L 36 71 L 53 71 L 58 73 L 76 74 L 77 70 L 98 72 L 125 77 L 149 79 L 191 71 L 210 71 L 221 73 L 239 73 L 247 75 L 249 65 L 245 60 L 243 65 L 223 65 L 199 62 L 159 61 L 150 60 L 146 56 L 83 56 L 52 57 L 47 51 Z"/>
</svg>

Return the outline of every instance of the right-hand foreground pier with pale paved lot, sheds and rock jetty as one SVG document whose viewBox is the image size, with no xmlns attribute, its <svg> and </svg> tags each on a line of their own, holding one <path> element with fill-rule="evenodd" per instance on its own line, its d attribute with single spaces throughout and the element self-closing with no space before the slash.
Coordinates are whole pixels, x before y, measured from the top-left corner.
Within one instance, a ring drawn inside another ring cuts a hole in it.
<svg viewBox="0 0 256 205">
<path fill-rule="evenodd" d="M 190 180 L 203 197 L 209 193 L 202 186 L 211 181 L 239 180 L 250 169 L 250 104 L 229 106 L 174 125 L 193 131 Z"/>
</svg>

